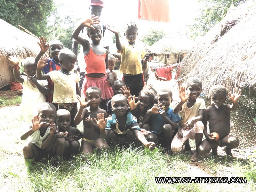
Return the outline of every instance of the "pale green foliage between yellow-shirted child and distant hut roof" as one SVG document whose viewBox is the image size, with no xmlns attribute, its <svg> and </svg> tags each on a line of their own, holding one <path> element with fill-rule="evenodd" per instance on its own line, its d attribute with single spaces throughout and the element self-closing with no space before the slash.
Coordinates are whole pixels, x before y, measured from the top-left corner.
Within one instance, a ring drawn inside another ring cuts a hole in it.
<svg viewBox="0 0 256 192">
<path fill-rule="evenodd" d="M 140 38 L 140 41 L 151 46 L 160 39 L 162 39 L 165 35 L 166 33 L 162 30 L 151 29 L 148 34 L 143 35 Z"/>
</svg>

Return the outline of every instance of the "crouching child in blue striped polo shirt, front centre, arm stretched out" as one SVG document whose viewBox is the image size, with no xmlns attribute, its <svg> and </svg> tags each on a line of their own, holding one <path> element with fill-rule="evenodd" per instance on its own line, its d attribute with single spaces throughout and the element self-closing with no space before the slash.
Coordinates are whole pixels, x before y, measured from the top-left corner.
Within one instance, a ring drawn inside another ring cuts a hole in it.
<svg viewBox="0 0 256 192">
<path fill-rule="evenodd" d="M 117 94 L 111 100 L 114 114 L 105 118 L 104 114 L 100 113 L 97 115 L 98 121 L 94 119 L 100 128 L 100 135 L 107 138 L 108 144 L 114 141 L 129 147 L 134 143 L 138 147 L 138 141 L 140 141 L 146 148 L 153 150 L 155 143 L 145 139 L 140 132 L 136 118 L 131 113 L 127 113 L 127 98 L 122 94 Z M 106 130 L 110 130 L 108 134 Z"/>
</svg>

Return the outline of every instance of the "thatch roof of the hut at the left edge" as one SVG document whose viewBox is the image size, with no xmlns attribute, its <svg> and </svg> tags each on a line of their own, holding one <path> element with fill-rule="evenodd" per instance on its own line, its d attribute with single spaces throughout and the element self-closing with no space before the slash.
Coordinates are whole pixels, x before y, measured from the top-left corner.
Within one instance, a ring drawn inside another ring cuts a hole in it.
<svg viewBox="0 0 256 192">
<path fill-rule="evenodd" d="M 13 27 L 9 23 L 0 19 L 2 28 L 0 33 L 0 58 L 7 58 L 10 55 L 35 57 L 40 51 L 37 44 L 38 39 Z"/>
</svg>

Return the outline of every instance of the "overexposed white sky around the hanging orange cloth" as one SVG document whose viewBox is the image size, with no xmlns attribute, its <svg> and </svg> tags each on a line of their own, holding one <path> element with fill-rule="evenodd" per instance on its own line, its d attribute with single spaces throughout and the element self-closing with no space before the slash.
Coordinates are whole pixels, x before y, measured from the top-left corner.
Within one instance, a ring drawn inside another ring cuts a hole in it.
<svg viewBox="0 0 256 192">
<path fill-rule="evenodd" d="M 161 28 L 173 30 L 193 24 L 195 18 L 200 14 L 198 11 L 200 3 L 197 0 L 169 0 L 171 23 L 152 22 L 138 20 L 138 0 L 103 0 L 101 20 L 107 21 L 115 26 L 122 28 L 127 21 L 136 21 L 139 25 L 139 33 L 145 34 L 150 28 Z M 73 15 L 75 18 L 82 19 L 89 15 L 90 0 L 55 0 L 57 4 L 63 4 L 59 8 L 59 13 L 63 18 L 66 15 Z"/>
</svg>

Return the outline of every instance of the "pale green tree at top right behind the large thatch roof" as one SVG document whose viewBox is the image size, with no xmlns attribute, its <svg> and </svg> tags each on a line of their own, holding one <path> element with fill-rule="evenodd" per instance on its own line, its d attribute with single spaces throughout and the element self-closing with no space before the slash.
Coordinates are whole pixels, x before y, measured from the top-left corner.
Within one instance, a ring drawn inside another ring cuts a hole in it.
<svg viewBox="0 0 256 192">
<path fill-rule="evenodd" d="M 246 0 L 244 0 L 246 1 Z M 204 6 L 196 24 L 189 26 L 195 35 L 204 35 L 227 14 L 231 4 L 238 6 L 243 0 L 199 0 Z"/>
</svg>

